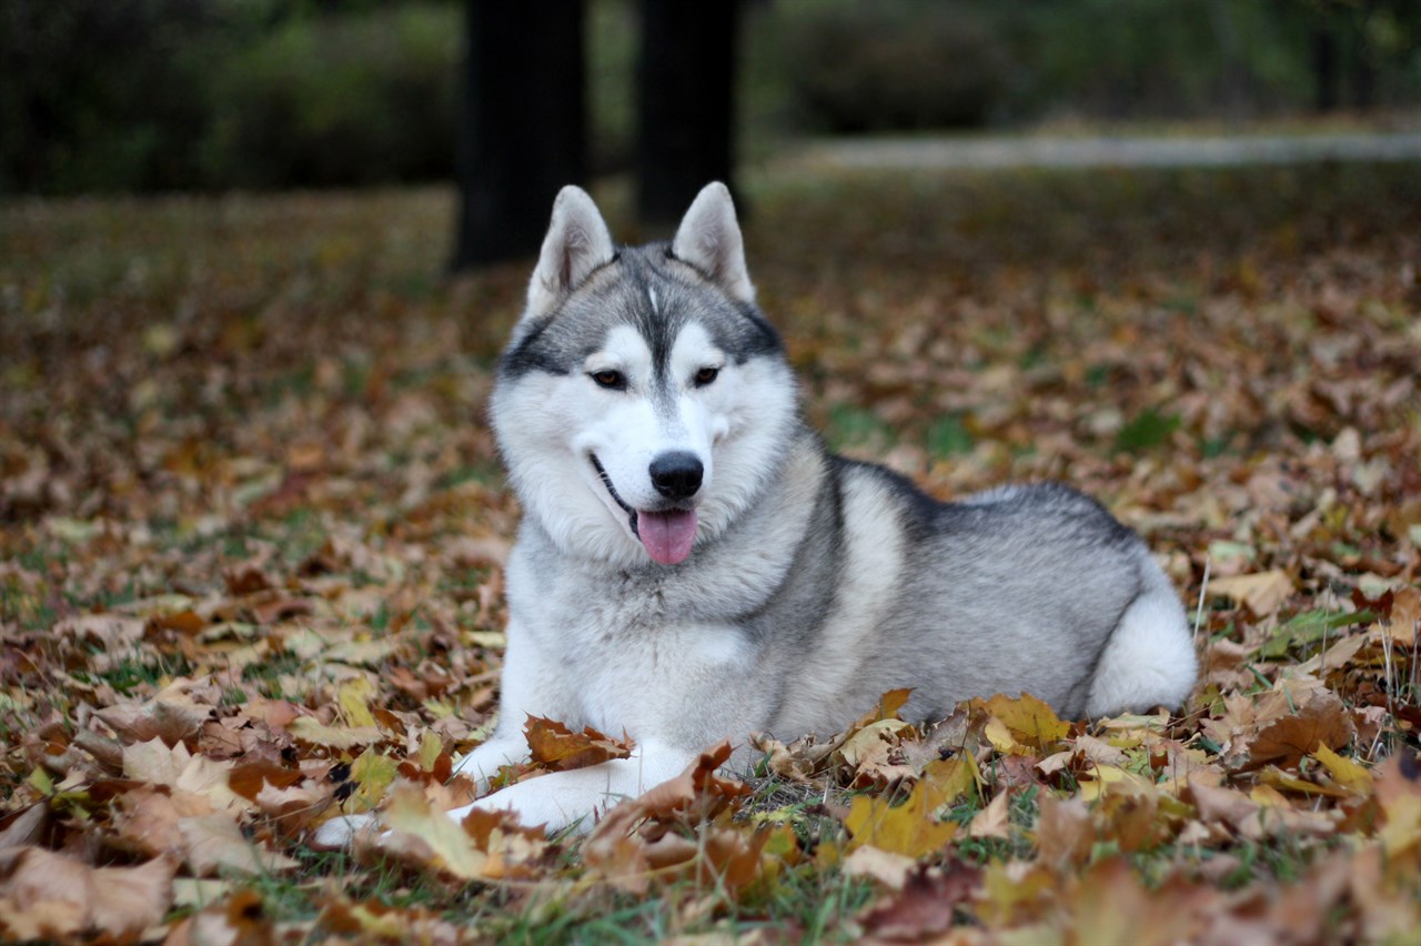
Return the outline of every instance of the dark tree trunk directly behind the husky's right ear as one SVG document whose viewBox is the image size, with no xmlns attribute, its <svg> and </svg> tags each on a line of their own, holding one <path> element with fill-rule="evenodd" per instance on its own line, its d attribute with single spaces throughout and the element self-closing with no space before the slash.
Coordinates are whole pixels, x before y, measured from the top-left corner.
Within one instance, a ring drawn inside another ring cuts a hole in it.
<svg viewBox="0 0 1421 946">
<path fill-rule="evenodd" d="M 635 170 L 644 223 L 674 224 L 710 180 L 735 190 L 739 13 L 739 0 L 641 0 Z"/>
</svg>

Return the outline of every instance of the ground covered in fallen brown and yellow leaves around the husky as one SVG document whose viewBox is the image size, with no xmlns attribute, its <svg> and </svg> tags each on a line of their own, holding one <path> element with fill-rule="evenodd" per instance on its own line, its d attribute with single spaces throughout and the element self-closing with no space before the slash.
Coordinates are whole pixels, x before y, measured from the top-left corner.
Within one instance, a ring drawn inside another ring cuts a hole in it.
<svg viewBox="0 0 1421 946">
<path fill-rule="evenodd" d="M 442 281 L 442 190 L 9 203 L 0 937 L 1408 942 L 1421 168 L 750 196 L 830 442 L 939 497 L 1097 494 L 1198 608 L 1182 714 L 887 695 L 588 838 L 450 831 L 496 712 L 517 510 L 482 409 L 526 266 Z M 533 734 L 541 767 L 622 751 Z M 311 848 L 377 805 L 381 844 Z"/>
</svg>

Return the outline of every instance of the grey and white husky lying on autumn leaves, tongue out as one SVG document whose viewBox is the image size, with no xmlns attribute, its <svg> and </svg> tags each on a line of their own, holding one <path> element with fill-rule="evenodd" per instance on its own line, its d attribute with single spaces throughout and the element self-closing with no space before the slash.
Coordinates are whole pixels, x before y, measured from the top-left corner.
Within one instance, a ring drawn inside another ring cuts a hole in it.
<svg viewBox="0 0 1421 946">
<path fill-rule="evenodd" d="M 563 189 L 492 419 L 523 523 L 499 724 L 458 768 L 527 759 L 529 716 L 637 747 L 470 807 L 587 828 L 723 739 L 836 733 L 897 687 L 932 719 L 998 692 L 1066 717 L 1177 707 L 1194 686 L 1174 588 L 1094 500 L 938 503 L 824 450 L 720 183 L 644 247 Z"/>
</svg>

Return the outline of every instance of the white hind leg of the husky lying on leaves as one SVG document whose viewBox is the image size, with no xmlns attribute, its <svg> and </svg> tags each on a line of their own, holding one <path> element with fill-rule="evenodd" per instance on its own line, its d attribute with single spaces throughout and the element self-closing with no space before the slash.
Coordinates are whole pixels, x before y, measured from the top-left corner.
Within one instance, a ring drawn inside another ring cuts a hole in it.
<svg viewBox="0 0 1421 946">
<path fill-rule="evenodd" d="M 1178 709 L 1198 676 L 1189 622 L 1174 588 L 1154 562 L 1147 562 L 1144 589 L 1115 625 L 1090 686 L 1091 717 Z"/>
</svg>

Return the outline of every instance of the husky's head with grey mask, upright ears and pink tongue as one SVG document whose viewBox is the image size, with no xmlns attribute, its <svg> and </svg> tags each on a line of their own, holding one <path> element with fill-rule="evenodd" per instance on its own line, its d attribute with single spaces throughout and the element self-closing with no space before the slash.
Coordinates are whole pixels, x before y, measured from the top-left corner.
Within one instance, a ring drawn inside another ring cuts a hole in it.
<svg viewBox="0 0 1421 946">
<path fill-rule="evenodd" d="M 669 244 L 621 250 L 585 192 L 558 193 L 493 423 L 524 511 L 560 548 L 685 561 L 755 503 L 794 418 L 725 185 Z"/>
</svg>

